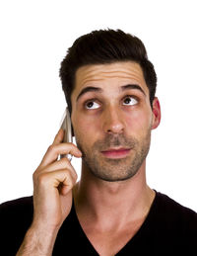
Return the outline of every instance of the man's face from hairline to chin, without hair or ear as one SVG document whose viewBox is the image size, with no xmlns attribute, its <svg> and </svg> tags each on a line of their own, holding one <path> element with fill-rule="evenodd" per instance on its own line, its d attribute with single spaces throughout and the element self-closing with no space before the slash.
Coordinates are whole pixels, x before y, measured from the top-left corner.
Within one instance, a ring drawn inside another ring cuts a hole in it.
<svg viewBox="0 0 197 256">
<path fill-rule="evenodd" d="M 80 67 L 71 101 L 83 167 L 106 181 L 134 176 L 149 151 L 154 116 L 140 65 Z"/>
</svg>

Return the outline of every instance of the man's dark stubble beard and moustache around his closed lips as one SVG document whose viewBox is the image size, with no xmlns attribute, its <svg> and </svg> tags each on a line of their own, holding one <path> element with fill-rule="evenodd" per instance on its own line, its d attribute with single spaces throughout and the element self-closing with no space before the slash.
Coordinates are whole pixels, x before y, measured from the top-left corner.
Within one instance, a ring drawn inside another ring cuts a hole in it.
<svg viewBox="0 0 197 256">
<path fill-rule="evenodd" d="M 76 138 L 76 141 L 83 153 L 84 164 L 94 176 L 108 182 L 124 181 L 132 178 L 144 162 L 150 149 L 151 128 L 140 141 L 134 137 L 125 137 L 124 134 L 106 134 L 91 148 L 85 147 L 83 140 L 79 138 Z M 100 153 L 114 146 L 130 148 L 129 155 L 120 159 L 112 159 Z"/>
</svg>

